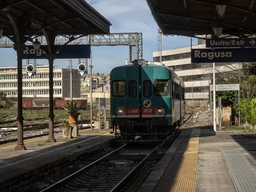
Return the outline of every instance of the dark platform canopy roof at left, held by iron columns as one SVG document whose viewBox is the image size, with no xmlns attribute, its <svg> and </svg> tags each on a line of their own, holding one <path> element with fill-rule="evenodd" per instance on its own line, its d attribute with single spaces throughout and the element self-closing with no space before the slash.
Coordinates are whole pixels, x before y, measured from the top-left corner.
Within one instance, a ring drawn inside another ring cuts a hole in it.
<svg viewBox="0 0 256 192">
<path fill-rule="evenodd" d="M 14 29 L 13 23 L 23 26 Z M 0 0 L 0 29 L 10 39 L 43 35 L 42 29 L 57 35 L 109 34 L 110 26 L 84 0 Z"/>
</svg>

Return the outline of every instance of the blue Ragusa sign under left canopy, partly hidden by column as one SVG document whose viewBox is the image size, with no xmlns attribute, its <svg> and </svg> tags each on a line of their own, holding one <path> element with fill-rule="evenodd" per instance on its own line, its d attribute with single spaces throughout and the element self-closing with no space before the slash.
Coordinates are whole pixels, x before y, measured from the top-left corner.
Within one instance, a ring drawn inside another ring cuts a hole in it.
<svg viewBox="0 0 256 192">
<path fill-rule="evenodd" d="M 90 45 L 55 45 L 58 50 L 56 59 L 58 58 L 90 58 Z M 62 48 L 61 48 L 62 47 Z M 61 48 L 61 49 L 60 49 Z M 35 50 L 32 45 L 26 46 L 22 58 L 23 59 L 46 59 L 47 45 L 41 45 L 39 50 Z"/>
</svg>

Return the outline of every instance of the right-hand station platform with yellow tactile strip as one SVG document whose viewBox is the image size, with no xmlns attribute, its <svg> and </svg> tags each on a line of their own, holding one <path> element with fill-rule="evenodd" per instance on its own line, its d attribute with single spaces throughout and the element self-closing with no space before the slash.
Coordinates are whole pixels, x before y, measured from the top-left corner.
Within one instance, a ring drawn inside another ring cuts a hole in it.
<svg viewBox="0 0 256 192">
<path fill-rule="evenodd" d="M 255 192 L 256 134 L 183 129 L 138 192 Z"/>
</svg>

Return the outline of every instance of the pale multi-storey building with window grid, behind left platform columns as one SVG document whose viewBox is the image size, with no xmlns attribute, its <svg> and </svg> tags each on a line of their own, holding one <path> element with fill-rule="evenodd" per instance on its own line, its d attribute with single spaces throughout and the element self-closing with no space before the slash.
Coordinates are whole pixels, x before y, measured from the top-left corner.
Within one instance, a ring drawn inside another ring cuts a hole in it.
<svg viewBox="0 0 256 192">
<path fill-rule="evenodd" d="M 29 77 L 23 66 L 23 97 L 49 97 L 49 65 L 37 65 Z M 0 91 L 17 97 L 17 67 L 0 67 Z M 73 70 L 73 97 L 80 97 L 80 76 Z M 53 69 L 53 96 L 70 97 L 70 70 Z"/>
</svg>

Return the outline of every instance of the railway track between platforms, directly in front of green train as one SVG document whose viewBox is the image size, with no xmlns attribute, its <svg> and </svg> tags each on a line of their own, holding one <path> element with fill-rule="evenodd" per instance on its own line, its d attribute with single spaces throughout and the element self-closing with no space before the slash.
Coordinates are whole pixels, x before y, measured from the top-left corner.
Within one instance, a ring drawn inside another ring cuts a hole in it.
<svg viewBox="0 0 256 192">
<path fill-rule="evenodd" d="M 90 165 L 80 169 L 79 171 L 65 177 L 52 186 L 47 187 L 41 192 L 72 192 L 72 191 L 97 191 L 97 192 L 120 192 L 121 189 L 137 174 L 148 160 L 164 142 L 149 148 L 129 149 L 129 145 L 125 144 L 120 148 L 112 151 L 104 157 L 94 161 Z M 123 159 L 130 156 L 130 161 L 114 160 L 116 158 Z M 136 161 L 142 156 L 143 159 Z M 114 158 L 111 159 L 111 156 Z M 131 158 L 132 156 L 132 158 Z"/>
</svg>

